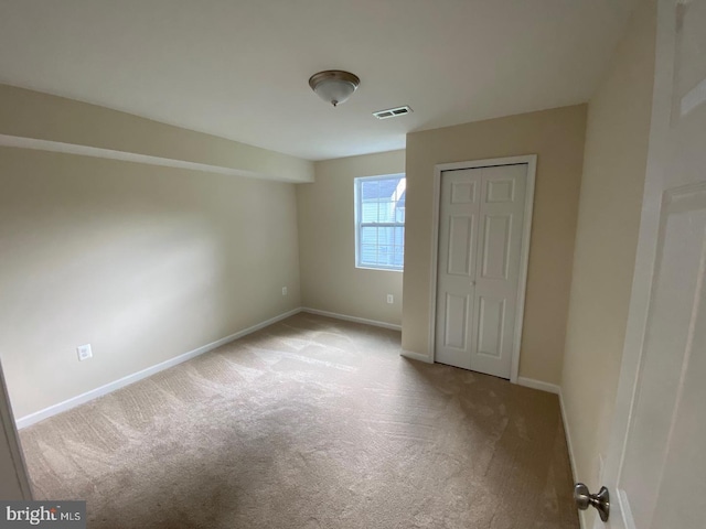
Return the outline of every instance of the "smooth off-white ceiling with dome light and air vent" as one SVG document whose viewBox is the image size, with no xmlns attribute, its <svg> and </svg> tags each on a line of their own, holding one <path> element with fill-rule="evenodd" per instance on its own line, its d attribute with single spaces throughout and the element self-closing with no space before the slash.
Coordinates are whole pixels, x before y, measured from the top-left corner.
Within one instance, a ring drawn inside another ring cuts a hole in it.
<svg viewBox="0 0 706 529">
<path fill-rule="evenodd" d="M 0 83 L 323 160 L 588 100 L 635 1 L 1 0 Z"/>
</svg>

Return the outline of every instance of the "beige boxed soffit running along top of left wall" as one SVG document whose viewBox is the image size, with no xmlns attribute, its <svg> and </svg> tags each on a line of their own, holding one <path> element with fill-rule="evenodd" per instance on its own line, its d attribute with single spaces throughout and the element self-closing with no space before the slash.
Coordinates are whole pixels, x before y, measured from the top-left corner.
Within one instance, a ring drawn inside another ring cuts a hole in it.
<svg viewBox="0 0 706 529">
<path fill-rule="evenodd" d="M 256 177 L 313 181 L 308 160 L 1 84 L 0 134 L 201 163 Z"/>
</svg>

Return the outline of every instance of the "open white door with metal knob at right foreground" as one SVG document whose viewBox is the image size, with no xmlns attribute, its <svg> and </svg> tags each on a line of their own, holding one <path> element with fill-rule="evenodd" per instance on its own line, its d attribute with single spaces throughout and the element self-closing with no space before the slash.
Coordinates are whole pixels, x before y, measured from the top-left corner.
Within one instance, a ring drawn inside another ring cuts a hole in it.
<svg viewBox="0 0 706 529">
<path fill-rule="evenodd" d="M 603 476 L 614 529 L 706 527 L 705 28 L 706 0 L 659 1 L 648 177 Z"/>
</svg>

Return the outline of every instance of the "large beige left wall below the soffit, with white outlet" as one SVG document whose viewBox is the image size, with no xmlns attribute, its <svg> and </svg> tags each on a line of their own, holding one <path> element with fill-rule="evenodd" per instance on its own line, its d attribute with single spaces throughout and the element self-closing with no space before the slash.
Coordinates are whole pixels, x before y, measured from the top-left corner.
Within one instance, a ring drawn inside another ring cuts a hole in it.
<svg viewBox="0 0 706 529">
<path fill-rule="evenodd" d="M 17 418 L 300 306 L 293 184 L 0 148 L 0 188 Z"/>
</svg>

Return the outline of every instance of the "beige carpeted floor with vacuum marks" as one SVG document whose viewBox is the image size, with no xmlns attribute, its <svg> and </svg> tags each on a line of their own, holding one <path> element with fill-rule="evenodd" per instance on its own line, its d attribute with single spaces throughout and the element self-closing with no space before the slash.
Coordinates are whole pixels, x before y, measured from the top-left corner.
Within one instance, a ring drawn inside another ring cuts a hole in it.
<svg viewBox="0 0 706 529">
<path fill-rule="evenodd" d="M 556 396 L 298 314 L 22 430 L 90 528 L 578 528 Z"/>
</svg>

